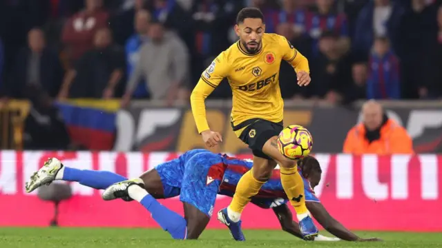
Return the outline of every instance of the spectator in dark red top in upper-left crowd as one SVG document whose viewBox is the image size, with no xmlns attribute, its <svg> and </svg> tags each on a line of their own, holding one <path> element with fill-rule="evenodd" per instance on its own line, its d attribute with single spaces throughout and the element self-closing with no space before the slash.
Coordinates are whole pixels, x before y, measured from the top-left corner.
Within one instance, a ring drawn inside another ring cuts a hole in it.
<svg viewBox="0 0 442 248">
<path fill-rule="evenodd" d="M 85 1 L 86 9 L 74 14 L 64 25 L 61 39 L 66 45 L 70 62 L 93 48 L 95 32 L 108 26 L 108 12 L 102 10 L 103 1 Z"/>
</svg>

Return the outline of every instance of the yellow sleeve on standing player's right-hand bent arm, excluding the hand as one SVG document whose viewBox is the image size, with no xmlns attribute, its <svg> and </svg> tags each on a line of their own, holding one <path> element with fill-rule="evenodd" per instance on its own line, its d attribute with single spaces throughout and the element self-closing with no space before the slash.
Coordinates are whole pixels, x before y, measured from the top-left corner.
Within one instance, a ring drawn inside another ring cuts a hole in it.
<svg viewBox="0 0 442 248">
<path fill-rule="evenodd" d="M 282 36 L 280 37 L 280 49 L 282 51 L 282 59 L 293 66 L 296 72 L 305 71 L 310 73 L 309 61 L 307 58 L 298 52 L 298 50 L 291 45 L 290 41 Z"/>
</svg>

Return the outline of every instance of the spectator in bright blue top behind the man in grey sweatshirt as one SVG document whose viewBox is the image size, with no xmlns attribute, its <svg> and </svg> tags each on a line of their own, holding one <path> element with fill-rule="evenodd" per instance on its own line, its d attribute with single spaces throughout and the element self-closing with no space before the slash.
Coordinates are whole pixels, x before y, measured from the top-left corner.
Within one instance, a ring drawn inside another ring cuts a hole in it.
<svg viewBox="0 0 442 248">
<path fill-rule="evenodd" d="M 148 42 L 148 26 L 151 21 L 151 14 L 147 10 L 138 10 L 135 15 L 135 34 L 133 34 L 126 41 L 126 65 L 127 65 L 127 79 L 130 79 L 133 70 L 140 61 L 140 48 L 143 44 Z M 146 82 L 141 80 L 137 83 L 137 87 L 133 92 L 135 98 L 147 98 L 148 92 L 146 89 Z"/>
</svg>

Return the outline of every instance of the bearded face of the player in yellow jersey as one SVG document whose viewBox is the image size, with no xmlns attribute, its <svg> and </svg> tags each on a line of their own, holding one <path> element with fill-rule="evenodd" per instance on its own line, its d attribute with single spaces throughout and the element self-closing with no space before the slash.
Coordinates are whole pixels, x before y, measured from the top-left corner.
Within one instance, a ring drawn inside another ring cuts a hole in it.
<svg viewBox="0 0 442 248">
<path fill-rule="evenodd" d="M 262 34 L 265 32 L 265 24 L 259 18 L 246 18 L 243 23 L 235 25 L 235 31 L 242 47 L 253 54 L 261 47 Z"/>
</svg>

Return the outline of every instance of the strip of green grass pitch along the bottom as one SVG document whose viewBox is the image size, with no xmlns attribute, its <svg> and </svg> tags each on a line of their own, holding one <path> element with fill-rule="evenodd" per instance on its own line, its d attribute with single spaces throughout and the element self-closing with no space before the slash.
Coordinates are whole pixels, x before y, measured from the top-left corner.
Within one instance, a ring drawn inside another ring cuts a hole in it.
<svg viewBox="0 0 442 248">
<path fill-rule="evenodd" d="M 1 248 L 241 248 L 241 247 L 442 247 L 442 233 L 358 232 L 384 242 L 305 242 L 277 230 L 245 230 L 247 241 L 231 240 L 226 230 L 206 230 L 200 240 L 172 240 L 160 229 L 0 228 Z M 324 233 L 323 233 L 324 234 Z M 327 234 L 325 234 L 327 235 Z"/>
</svg>

